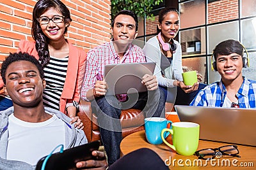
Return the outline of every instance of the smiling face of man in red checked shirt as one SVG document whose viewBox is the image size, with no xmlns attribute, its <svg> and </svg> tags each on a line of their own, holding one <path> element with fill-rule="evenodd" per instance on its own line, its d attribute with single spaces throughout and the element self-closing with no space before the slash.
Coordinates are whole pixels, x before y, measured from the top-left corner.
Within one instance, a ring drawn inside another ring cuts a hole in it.
<svg viewBox="0 0 256 170">
<path fill-rule="evenodd" d="M 129 15 L 118 15 L 115 18 L 113 27 L 111 27 L 111 34 L 115 41 L 135 39 L 138 35 L 138 31 L 136 31 L 134 18 Z"/>
</svg>

